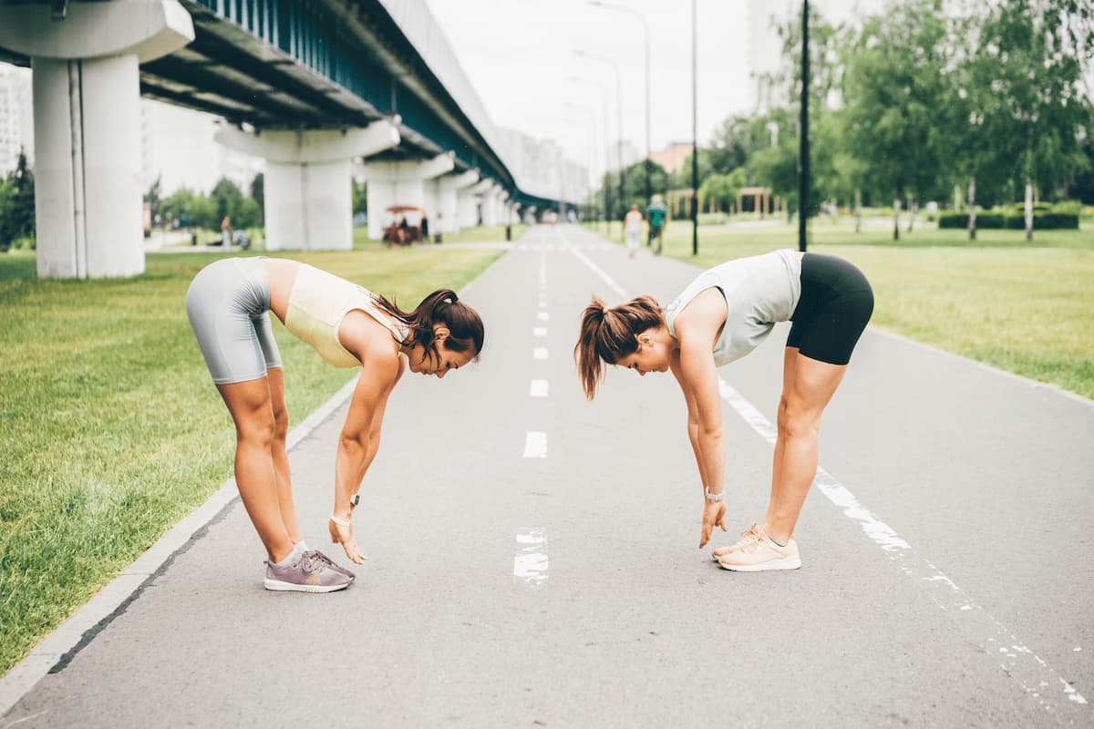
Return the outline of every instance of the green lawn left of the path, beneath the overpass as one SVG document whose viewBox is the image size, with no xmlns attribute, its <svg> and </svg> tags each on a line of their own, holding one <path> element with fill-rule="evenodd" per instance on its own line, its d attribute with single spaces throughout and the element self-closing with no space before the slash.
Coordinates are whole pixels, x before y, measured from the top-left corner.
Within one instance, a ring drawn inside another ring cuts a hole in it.
<svg viewBox="0 0 1094 729">
<path fill-rule="evenodd" d="M 412 306 L 500 255 L 288 257 Z M 232 422 L 184 305 L 194 274 L 222 256 L 149 256 L 144 275 L 94 281 L 39 281 L 32 254 L 0 256 L 0 674 L 232 475 Z M 274 328 L 299 422 L 354 371 Z"/>
</svg>

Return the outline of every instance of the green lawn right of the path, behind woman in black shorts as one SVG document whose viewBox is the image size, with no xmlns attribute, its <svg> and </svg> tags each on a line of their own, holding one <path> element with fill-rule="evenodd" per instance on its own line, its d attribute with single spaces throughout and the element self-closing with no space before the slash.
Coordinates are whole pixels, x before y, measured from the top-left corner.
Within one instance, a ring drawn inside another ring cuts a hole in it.
<svg viewBox="0 0 1094 729">
<path fill-rule="evenodd" d="M 906 223 L 905 223 L 906 225 Z M 796 225 L 691 226 L 674 222 L 665 254 L 710 267 L 796 248 Z M 874 286 L 871 324 L 910 339 L 1094 398 L 1094 233 L 863 228 L 814 221 L 808 249 L 853 261 Z"/>
</svg>

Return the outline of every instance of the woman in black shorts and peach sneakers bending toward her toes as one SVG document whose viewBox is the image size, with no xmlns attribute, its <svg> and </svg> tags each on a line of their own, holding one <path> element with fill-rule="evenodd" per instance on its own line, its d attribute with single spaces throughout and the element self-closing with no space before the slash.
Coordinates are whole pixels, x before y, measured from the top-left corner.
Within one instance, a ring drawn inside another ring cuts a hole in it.
<svg viewBox="0 0 1094 729">
<path fill-rule="evenodd" d="M 767 514 L 712 556 L 725 569 L 796 569 L 794 526 L 817 470 L 821 415 L 873 307 L 869 281 L 848 261 L 777 250 L 705 271 L 664 308 L 650 296 L 609 308 L 594 295 L 582 315 L 574 358 L 590 400 L 605 363 L 639 375 L 672 371 L 687 402 L 688 438 L 702 482 L 702 548 L 715 526 L 725 530 L 717 367 L 758 346 L 775 322 L 792 321 Z"/>
</svg>

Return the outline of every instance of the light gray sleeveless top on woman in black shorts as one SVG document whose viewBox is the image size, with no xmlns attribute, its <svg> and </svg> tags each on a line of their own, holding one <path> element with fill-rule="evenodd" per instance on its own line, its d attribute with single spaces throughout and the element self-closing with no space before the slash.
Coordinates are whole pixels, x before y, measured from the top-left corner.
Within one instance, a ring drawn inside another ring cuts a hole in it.
<svg viewBox="0 0 1094 729">
<path fill-rule="evenodd" d="M 725 326 L 714 342 L 714 364 L 722 366 L 759 346 L 776 321 L 788 321 L 802 296 L 802 259 L 790 249 L 738 258 L 703 271 L 665 307 L 668 333 L 676 317 L 711 286 L 725 297 Z"/>
</svg>

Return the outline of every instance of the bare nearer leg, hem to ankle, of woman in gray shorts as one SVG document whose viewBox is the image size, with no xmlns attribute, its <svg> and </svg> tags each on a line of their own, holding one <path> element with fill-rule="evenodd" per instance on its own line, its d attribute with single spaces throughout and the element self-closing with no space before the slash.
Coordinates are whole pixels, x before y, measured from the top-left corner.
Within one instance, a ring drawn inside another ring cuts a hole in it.
<svg viewBox="0 0 1094 729">
<path fill-rule="evenodd" d="M 269 383 L 261 377 L 218 385 L 217 389 L 235 422 L 235 484 L 240 497 L 270 562 L 280 562 L 292 552 L 293 541 L 278 498 L 271 455 L 276 427 Z"/>
</svg>

